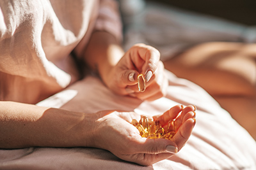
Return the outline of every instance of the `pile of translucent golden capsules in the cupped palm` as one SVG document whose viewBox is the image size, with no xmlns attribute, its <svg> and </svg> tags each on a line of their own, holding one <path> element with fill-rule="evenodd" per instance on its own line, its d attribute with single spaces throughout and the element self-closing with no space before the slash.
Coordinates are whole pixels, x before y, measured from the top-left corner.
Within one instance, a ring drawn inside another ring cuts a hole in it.
<svg viewBox="0 0 256 170">
<path fill-rule="evenodd" d="M 143 138 L 172 139 L 173 136 L 176 134 L 174 125 L 175 120 L 170 120 L 165 129 L 162 127 L 158 120 L 154 122 L 152 118 L 147 118 L 145 116 L 141 117 L 140 122 L 138 122 L 136 119 L 133 119 L 131 124 L 140 131 L 140 136 Z"/>
</svg>

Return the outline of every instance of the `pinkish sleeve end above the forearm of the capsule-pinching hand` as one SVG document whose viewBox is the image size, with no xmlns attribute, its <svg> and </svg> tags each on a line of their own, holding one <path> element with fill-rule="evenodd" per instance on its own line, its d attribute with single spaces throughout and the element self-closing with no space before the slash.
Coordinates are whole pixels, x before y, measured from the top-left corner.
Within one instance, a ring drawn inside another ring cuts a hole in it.
<svg viewBox="0 0 256 170">
<path fill-rule="evenodd" d="M 100 0 L 99 16 L 94 31 L 106 31 L 119 41 L 122 41 L 122 20 L 118 2 L 115 0 Z"/>
</svg>

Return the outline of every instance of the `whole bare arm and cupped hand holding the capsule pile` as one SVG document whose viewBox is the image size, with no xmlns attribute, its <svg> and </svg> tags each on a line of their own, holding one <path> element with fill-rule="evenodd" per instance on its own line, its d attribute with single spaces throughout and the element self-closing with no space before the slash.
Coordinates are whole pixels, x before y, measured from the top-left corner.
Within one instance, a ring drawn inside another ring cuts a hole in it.
<svg viewBox="0 0 256 170">
<path fill-rule="evenodd" d="M 12 107 L 14 106 L 14 107 Z M 141 115 L 125 111 L 99 111 L 95 114 L 44 108 L 32 104 L 1 102 L 0 148 L 28 146 L 90 146 L 109 150 L 123 160 L 148 166 L 167 159 L 188 141 L 195 126 L 195 107 L 181 105 L 157 115 L 166 124 L 177 117 L 178 132 L 172 140 L 141 138 L 131 124 Z M 10 112 L 9 112 L 10 111 Z M 54 129 L 54 130 L 53 130 Z M 173 146 L 175 150 L 166 150 Z"/>
</svg>

